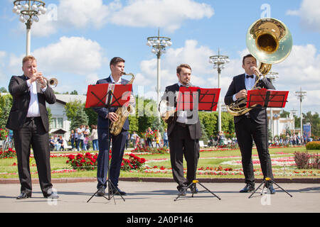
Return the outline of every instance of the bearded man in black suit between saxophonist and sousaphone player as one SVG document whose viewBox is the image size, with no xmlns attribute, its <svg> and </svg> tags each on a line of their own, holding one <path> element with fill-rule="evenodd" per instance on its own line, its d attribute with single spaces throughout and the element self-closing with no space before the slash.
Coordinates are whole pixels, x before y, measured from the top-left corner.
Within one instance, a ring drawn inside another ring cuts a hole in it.
<svg viewBox="0 0 320 227">
<path fill-rule="evenodd" d="M 191 67 L 186 64 L 179 65 L 176 69 L 178 83 L 166 87 L 161 100 L 169 101 L 169 106 L 176 107 L 176 95 L 179 88 L 189 87 Z M 201 125 L 198 111 L 178 111 L 170 116 L 168 121 L 168 138 L 172 174 L 178 184 L 178 192 L 186 195 L 186 187 L 196 179 L 196 167 L 199 158 L 199 138 L 201 138 Z M 187 162 L 187 175 L 183 176 L 183 155 Z M 198 192 L 195 184 L 191 188 L 193 193 Z"/>
</svg>

